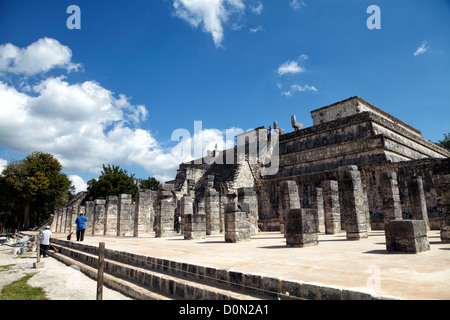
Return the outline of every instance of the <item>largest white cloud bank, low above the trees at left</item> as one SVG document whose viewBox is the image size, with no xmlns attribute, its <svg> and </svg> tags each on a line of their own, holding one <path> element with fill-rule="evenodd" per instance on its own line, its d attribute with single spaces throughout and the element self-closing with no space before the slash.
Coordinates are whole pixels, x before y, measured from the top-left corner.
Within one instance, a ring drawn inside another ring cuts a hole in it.
<svg viewBox="0 0 450 320">
<path fill-rule="evenodd" d="M 14 86 L 0 81 L 0 145 L 22 154 L 51 153 L 66 172 L 100 174 L 103 164 L 136 165 L 167 181 L 175 177 L 180 163 L 205 156 L 216 144 L 219 150 L 234 144 L 236 129 L 231 136 L 201 129 L 192 138 L 164 147 L 166 141 L 161 144 L 141 128 L 147 108 L 125 95 L 95 81 L 70 83 L 64 76 L 29 82 Z M 192 152 L 199 145 L 199 153 Z M 6 161 L 0 159 L 0 169 L 3 166 Z M 84 189 L 79 176 L 70 179 L 77 191 Z"/>
</svg>

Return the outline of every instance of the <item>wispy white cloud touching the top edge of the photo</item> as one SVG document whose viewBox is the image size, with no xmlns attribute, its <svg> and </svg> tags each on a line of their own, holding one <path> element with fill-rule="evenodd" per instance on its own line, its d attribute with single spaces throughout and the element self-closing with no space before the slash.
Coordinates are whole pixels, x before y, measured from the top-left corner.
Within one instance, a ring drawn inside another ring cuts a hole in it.
<svg viewBox="0 0 450 320">
<path fill-rule="evenodd" d="M 224 37 L 223 24 L 232 13 L 242 13 L 242 0 L 174 0 L 175 15 L 189 22 L 193 27 L 202 26 L 212 35 L 216 47 Z"/>
</svg>

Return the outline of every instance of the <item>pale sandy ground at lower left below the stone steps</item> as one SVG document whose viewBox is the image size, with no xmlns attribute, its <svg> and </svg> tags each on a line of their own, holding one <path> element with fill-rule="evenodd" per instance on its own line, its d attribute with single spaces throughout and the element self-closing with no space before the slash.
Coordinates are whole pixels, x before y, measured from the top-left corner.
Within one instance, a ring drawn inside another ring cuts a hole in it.
<svg viewBox="0 0 450 320">
<path fill-rule="evenodd" d="M 36 252 L 15 255 L 12 249 L 6 245 L 0 246 L 0 290 L 25 275 L 34 273 L 28 284 L 43 288 L 50 300 L 96 300 L 97 281 L 84 275 L 75 266 L 67 266 L 51 257 L 41 257 L 44 267 L 34 268 Z M 8 265 L 12 266 L 8 269 L 1 267 Z M 103 300 L 131 299 L 104 287 Z"/>
</svg>

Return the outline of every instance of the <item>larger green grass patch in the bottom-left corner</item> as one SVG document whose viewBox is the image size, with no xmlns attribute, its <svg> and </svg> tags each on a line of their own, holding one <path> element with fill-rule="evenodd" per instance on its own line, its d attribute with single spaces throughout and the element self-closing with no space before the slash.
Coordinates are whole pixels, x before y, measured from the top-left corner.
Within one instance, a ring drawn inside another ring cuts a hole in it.
<svg viewBox="0 0 450 320">
<path fill-rule="evenodd" d="M 27 281 L 34 275 L 28 274 L 13 283 L 4 286 L 0 300 L 48 300 L 42 288 L 34 288 Z"/>
</svg>

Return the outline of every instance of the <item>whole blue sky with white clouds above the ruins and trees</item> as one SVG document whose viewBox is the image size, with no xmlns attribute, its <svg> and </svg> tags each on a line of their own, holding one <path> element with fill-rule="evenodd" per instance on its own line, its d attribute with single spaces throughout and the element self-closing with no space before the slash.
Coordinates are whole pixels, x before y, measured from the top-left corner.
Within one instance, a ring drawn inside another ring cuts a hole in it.
<svg viewBox="0 0 450 320">
<path fill-rule="evenodd" d="M 0 166 L 43 151 L 79 190 L 102 164 L 169 180 L 189 158 L 177 129 L 206 152 L 351 96 L 438 141 L 449 30 L 448 0 L 1 0 Z"/>
</svg>

